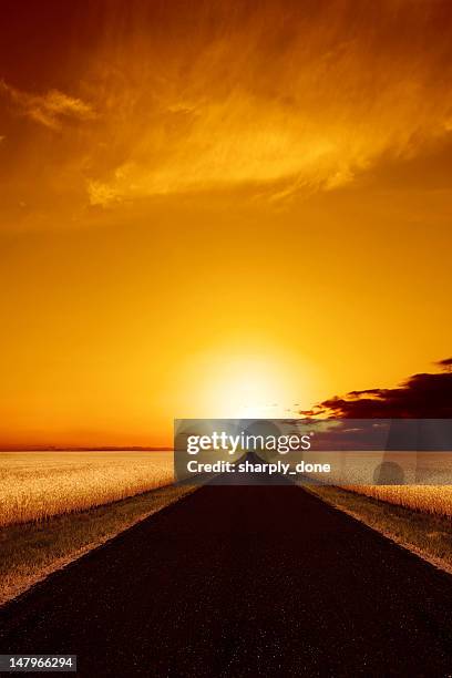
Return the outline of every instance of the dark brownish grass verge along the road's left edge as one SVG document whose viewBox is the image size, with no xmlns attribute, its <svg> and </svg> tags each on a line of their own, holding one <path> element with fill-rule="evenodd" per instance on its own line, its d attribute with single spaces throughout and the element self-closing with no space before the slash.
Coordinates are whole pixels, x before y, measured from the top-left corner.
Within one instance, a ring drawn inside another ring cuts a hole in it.
<svg viewBox="0 0 452 678">
<path fill-rule="evenodd" d="M 0 528 L 0 605 L 194 490 L 167 485 L 89 511 Z"/>
</svg>

